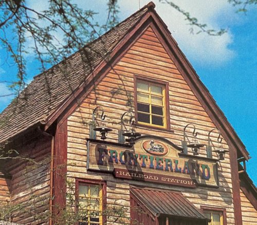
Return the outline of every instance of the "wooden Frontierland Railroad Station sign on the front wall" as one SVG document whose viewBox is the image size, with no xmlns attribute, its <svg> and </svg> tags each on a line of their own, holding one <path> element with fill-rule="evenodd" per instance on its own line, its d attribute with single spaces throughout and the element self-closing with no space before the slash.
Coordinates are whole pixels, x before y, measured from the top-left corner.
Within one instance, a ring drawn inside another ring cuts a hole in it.
<svg viewBox="0 0 257 225">
<path fill-rule="evenodd" d="M 134 146 L 89 139 L 87 170 L 191 188 L 217 187 L 216 160 L 181 154 L 181 150 L 172 142 L 154 136 L 143 136 Z"/>
</svg>

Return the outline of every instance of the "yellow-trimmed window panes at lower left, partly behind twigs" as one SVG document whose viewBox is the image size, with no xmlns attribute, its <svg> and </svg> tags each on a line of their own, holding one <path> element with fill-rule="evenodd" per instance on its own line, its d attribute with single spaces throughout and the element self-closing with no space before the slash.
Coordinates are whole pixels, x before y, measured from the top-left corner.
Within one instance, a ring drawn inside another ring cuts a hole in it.
<svg viewBox="0 0 257 225">
<path fill-rule="evenodd" d="M 102 185 L 79 184 L 79 225 L 102 224 Z"/>
</svg>

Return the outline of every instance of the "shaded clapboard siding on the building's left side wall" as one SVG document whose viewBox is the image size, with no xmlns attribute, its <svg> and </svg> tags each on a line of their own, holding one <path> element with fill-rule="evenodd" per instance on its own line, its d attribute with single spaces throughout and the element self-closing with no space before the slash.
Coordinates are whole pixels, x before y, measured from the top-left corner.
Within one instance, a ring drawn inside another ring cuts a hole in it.
<svg viewBox="0 0 257 225">
<path fill-rule="evenodd" d="M 51 139 L 41 137 L 17 148 L 28 160 L 11 160 L 8 164 L 12 179 L 11 205 L 19 205 L 12 221 L 22 224 L 47 224 L 50 199 Z"/>
</svg>

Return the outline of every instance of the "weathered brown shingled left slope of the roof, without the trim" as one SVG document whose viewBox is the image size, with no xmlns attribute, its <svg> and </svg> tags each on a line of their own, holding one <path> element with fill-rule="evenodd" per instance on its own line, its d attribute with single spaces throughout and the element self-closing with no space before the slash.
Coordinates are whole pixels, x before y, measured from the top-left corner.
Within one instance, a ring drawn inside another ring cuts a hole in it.
<svg viewBox="0 0 257 225">
<path fill-rule="evenodd" d="M 35 76 L 0 115 L 0 142 L 32 125 L 44 124 L 48 116 L 86 81 L 88 75 L 108 57 L 151 6 L 143 7 L 68 59 Z"/>
</svg>

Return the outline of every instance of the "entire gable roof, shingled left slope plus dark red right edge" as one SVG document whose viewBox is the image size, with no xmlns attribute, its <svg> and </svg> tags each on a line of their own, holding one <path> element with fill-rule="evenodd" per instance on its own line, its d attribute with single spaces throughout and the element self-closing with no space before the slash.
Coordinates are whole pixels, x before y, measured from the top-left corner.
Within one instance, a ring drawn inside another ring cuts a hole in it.
<svg viewBox="0 0 257 225">
<path fill-rule="evenodd" d="M 244 156 L 248 160 L 249 153 L 244 144 L 200 81 L 192 65 L 178 48 L 167 25 L 161 20 L 154 7 L 154 3 L 150 2 L 97 40 L 72 54 L 67 60 L 36 76 L 19 98 L 16 98 L 0 115 L 0 122 L 6 120 L 0 125 L 0 142 L 36 124 L 47 123 L 45 127 L 48 127 L 49 121 L 52 123 L 67 105 L 76 101 L 78 92 L 89 89 L 89 75 L 97 74 L 97 69 L 113 57 L 113 53 L 122 46 L 124 40 L 128 40 L 130 32 L 138 29 L 137 26 L 149 16 L 165 36 L 165 42 L 168 48 L 172 48 L 176 58 L 173 61 L 178 62 L 180 72 L 185 71 L 186 81 L 193 86 L 193 90 L 200 98 L 199 101 L 206 105 L 212 119 L 221 124 L 222 129 L 228 134 L 228 138 L 240 153 L 238 157 Z"/>
</svg>

